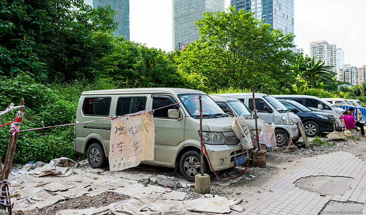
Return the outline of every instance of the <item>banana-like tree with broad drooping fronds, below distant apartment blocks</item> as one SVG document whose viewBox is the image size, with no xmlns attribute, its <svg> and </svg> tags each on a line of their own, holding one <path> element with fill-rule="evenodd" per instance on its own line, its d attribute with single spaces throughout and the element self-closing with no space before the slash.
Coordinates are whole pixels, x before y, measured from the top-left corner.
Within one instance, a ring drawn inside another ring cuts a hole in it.
<svg viewBox="0 0 366 215">
<path fill-rule="evenodd" d="M 325 66 L 325 62 L 320 59 L 315 62 L 315 57 L 298 55 L 296 62 L 293 63 L 294 75 L 305 88 L 324 88 L 333 85 L 337 73 L 330 71 L 331 66 Z"/>
</svg>

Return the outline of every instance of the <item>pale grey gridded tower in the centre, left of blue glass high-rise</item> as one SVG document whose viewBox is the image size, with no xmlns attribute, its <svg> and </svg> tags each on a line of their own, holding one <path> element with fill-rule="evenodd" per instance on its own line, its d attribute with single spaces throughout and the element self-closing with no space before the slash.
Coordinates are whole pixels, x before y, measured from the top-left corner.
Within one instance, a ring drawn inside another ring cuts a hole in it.
<svg viewBox="0 0 366 215">
<path fill-rule="evenodd" d="M 205 11 L 224 11 L 225 0 L 173 0 L 173 50 L 200 39 L 195 24 Z"/>
</svg>

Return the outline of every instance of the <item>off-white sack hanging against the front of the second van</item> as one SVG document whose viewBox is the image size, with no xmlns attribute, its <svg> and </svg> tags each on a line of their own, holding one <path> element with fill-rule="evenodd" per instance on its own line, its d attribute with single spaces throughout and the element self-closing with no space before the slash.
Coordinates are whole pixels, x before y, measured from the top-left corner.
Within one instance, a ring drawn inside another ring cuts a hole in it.
<svg viewBox="0 0 366 215">
<path fill-rule="evenodd" d="M 244 116 L 233 118 L 232 129 L 245 150 L 253 148 L 252 138 L 250 137 L 248 125 Z"/>
</svg>

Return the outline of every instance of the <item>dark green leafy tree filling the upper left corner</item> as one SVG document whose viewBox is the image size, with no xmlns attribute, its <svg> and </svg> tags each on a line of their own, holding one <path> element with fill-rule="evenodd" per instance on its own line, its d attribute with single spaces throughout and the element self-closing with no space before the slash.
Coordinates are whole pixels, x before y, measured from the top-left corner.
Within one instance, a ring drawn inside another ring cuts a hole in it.
<svg viewBox="0 0 366 215">
<path fill-rule="evenodd" d="M 0 10 L 0 72 L 28 72 L 38 81 L 97 76 L 117 25 L 110 7 L 83 0 L 0 1 Z"/>
</svg>

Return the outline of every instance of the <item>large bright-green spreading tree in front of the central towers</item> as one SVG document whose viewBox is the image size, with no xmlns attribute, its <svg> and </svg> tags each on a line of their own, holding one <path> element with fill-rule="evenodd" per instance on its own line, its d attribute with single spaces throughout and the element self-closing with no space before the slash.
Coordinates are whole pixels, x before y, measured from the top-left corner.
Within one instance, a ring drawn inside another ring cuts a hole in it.
<svg viewBox="0 0 366 215">
<path fill-rule="evenodd" d="M 292 34 L 272 29 L 252 12 L 235 13 L 233 7 L 203 15 L 196 22 L 200 39 L 175 59 L 179 71 L 198 78 L 194 87 L 215 91 L 255 85 L 268 93 L 290 91 Z"/>
</svg>

